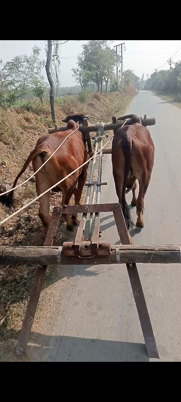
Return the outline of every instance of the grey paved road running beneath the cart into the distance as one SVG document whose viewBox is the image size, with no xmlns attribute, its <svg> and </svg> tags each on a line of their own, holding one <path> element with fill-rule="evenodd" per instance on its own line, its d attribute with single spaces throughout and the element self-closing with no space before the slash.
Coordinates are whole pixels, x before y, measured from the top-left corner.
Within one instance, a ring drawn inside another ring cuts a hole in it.
<svg viewBox="0 0 181 402">
<path fill-rule="evenodd" d="M 156 152 L 145 198 L 145 228 L 134 231 L 133 241 L 138 245 L 179 244 L 181 110 L 150 92 L 140 91 L 128 112 L 156 118 L 156 126 L 150 128 Z M 117 202 L 111 158 L 105 159 L 103 181 L 108 181 L 108 186 L 103 188 L 102 203 Z M 103 239 L 119 244 L 112 214 L 102 215 L 101 225 Z M 160 361 L 180 361 L 180 265 L 138 264 L 138 270 Z M 64 276 L 61 294 L 60 282 L 55 285 L 59 308 L 51 324 L 34 336 L 34 343 L 41 344 L 41 348 L 32 348 L 31 360 L 150 361 L 124 265 L 72 267 L 64 270 Z"/>
</svg>

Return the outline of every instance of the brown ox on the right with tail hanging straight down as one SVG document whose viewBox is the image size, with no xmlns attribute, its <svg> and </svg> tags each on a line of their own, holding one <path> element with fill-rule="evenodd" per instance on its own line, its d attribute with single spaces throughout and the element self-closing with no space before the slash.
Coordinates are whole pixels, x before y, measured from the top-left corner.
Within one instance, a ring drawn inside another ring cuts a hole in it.
<svg viewBox="0 0 181 402">
<path fill-rule="evenodd" d="M 120 117 L 131 119 L 129 124 L 118 129 L 113 139 L 112 163 L 116 192 L 121 204 L 127 229 L 133 227 L 131 213 L 126 202 L 126 193 L 133 191 L 132 205 L 137 209 L 137 228 L 143 228 L 144 197 L 154 165 L 154 144 L 149 131 L 142 126 L 135 115 Z M 136 179 L 139 181 L 139 195 L 136 199 Z M 126 190 L 128 188 L 128 190 Z"/>
</svg>

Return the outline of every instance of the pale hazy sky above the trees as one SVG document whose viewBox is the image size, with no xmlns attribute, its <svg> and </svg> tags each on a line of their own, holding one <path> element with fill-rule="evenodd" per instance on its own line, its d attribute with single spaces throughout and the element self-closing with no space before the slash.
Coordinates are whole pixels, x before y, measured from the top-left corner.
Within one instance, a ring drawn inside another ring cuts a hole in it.
<svg viewBox="0 0 181 402">
<path fill-rule="evenodd" d="M 69 41 L 60 48 L 61 72 L 60 82 L 62 86 L 76 85 L 71 69 L 76 67 L 77 55 L 81 53 L 82 45 L 88 41 Z M 122 42 L 126 44 L 123 52 L 124 70 L 133 70 L 141 77 L 143 73 L 150 75 L 155 68 L 167 69 L 167 59 L 181 60 L 181 41 L 113 41 L 112 47 Z M 46 41 L 0 41 L 0 59 L 3 62 L 11 60 L 15 56 L 31 54 L 34 45 L 41 49 L 40 58 L 46 59 Z M 46 79 L 46 72 L 43 71 Z"/>
</svg>

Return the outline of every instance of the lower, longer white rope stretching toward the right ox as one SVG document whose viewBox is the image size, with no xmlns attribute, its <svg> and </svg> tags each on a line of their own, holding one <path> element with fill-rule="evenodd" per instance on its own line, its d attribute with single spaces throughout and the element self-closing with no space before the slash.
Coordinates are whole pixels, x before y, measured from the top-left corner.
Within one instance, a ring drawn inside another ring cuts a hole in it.
<svg viewBox="0 0 181 402">
<path fill-rule="evenodd" d="M 73 134 L 73 133 L 72 133 Z M 113 136 L 114 137 L 114 136 Z M 106 145 L 113 139 L 113 137 L 110 138 L 110 140 L 97 152 L 96 155 L 99 154 L 99 152 L 102 151 L 103 148 L 106 147 Z M 58 181 L 58 183 L 52 185 L 52 187 L 48 188 L 48 190 L 44 191 L 42 194 L 40 194 L 38 197 L 32 199 L 32 201 L 30 201 L 30 203 L 24 205 L 24 207 L 20 208 L 20 210 L 14 212 L 12 215 L 10 215 L 9 217 L 5 218 L 3 221 L 0 222 L 0 226 L 3 225 L 5 222 L 9 221 L 9 219 L 15 217 L 16 215 L 18 215 L 21 211 L 25 210 L 27 207 L 30 207 L 30 205 L 32 205 L 33 203 L 35 203 L 39 198 L 41 198 L 43 195 L 45 195 L 47 192 L 51 191 L 54 187 L 58 186 L 60 183 L 62 183 L 62 181 L 66 180 L 68 177 L 70 177 L 72 174 L 74 174 L 75 172 L 77 172 L 77 170 L 81 169 L 83 166 L 85 166 L 90 160 L 92 160 L 95 157 L 95 155 L 93 155 L 91 158 L 89 158 L 86 162 L 84 162 L 81 166 L 77 167 L 77 169 L 73 170 L 73 172 L 69 173 L 66 177 L 64 177 L 63 179 L 61 179 L 60 181 Z"/>
</svg>

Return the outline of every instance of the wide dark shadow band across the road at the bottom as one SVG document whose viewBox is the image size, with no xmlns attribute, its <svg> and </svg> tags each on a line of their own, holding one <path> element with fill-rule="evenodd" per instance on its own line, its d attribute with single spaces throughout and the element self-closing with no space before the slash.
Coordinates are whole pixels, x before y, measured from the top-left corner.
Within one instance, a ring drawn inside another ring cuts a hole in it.
<svg viewBox="0 0 181 402">
<path fill-rule="evenodd" d="M 29 361 L 149 362 L 144 344 L 33 334 Z"/>
</svg>

